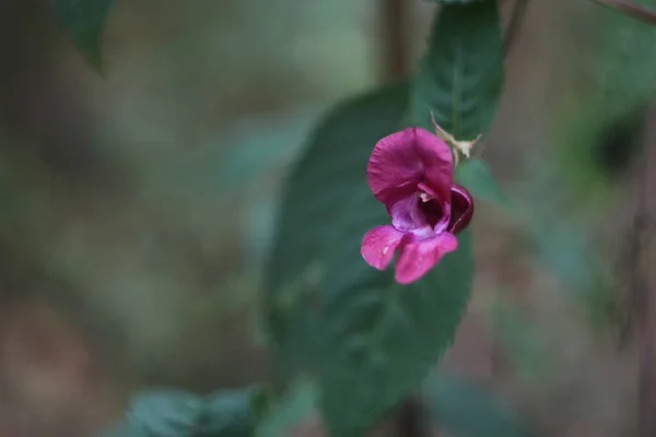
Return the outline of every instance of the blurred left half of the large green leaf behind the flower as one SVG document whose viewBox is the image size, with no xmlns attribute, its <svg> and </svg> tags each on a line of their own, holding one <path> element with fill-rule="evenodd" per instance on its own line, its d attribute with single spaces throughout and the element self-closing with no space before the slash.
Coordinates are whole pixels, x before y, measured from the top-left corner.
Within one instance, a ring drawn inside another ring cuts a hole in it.
<svg viewBox="0 0 656 437">
<path fill-rule="evenodd" d="M 393 85 L 339 105 L 318 126 L 288 179 L 265 284 L 266 317 L 283 379 L 317 357 L 312 308 L 326 231 L 352 190 L 367 189 L 366 162 L 376 141 L 397 128 L 407 91 L 405 84 Z"/>
</svg>

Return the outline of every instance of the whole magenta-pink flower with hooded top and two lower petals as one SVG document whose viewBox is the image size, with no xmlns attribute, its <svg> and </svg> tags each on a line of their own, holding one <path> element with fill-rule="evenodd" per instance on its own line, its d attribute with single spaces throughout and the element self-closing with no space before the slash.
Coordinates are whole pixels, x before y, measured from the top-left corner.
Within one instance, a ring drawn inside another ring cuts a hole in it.
<svg viewBox="0 0 656 437">
<path fill-rule="evenodd" d="M 473 213 L 469 192 L 453 182 L 449 146 L 422 128 L 408 128 L 376 143 L 367 165 L 374 197 L 385 203 L 391 225 L 362 238 L 362 257 L 384 270 L 399 251 L 395 279 L 409 284 L 444 255 L 456 250 L 455 236 Z"/>
</svg>

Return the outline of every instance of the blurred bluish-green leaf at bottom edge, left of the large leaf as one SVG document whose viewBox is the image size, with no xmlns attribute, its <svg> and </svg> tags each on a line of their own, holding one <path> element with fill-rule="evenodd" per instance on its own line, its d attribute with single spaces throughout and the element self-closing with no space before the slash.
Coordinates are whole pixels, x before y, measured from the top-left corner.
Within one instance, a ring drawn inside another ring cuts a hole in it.
<svg viewBox="0 0 656 437">
<path fill-rule="evenodd" d="M 250 437 L 266 395 L 254 389 L 200 397 L 151 390 L 137 397 L 125 422 L 104 437 Z"/>
</svg>

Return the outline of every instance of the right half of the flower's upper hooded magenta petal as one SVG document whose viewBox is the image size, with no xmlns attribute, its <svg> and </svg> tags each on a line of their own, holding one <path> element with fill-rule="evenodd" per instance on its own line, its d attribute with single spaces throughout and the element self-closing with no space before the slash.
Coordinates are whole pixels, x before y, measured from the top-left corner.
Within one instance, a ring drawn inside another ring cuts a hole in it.
<svg viewBox="0 0 656 437">
<path fill-rule="evenodd" d="M 454 165 L 448 144 L 425 129 L 414 128 L 414 151 L 423 166 L 423 182 L 441 202 L 449 202 Z"/>
</svg>

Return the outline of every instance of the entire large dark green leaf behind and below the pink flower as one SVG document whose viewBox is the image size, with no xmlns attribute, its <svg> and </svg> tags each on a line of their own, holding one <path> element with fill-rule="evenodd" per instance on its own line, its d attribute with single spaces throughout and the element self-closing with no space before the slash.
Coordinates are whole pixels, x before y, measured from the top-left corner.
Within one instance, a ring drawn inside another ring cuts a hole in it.
<svg viewBox="0 0 656 437">
<path fill-rule="evenodd" d="M 398 128 L 405 96 L 394 86 L 352 101 L 319 127 L 289 180 L 269 264 L 278 362 L 318 373 L 328 426 L 344 437 L 361 435 L 420 387 L 453 340 L 471 286 L 468 233 L 410 286 L 360 255 L 363 234 L 389 222 L 370 191 L 366 162 Z"/>
</svg>

